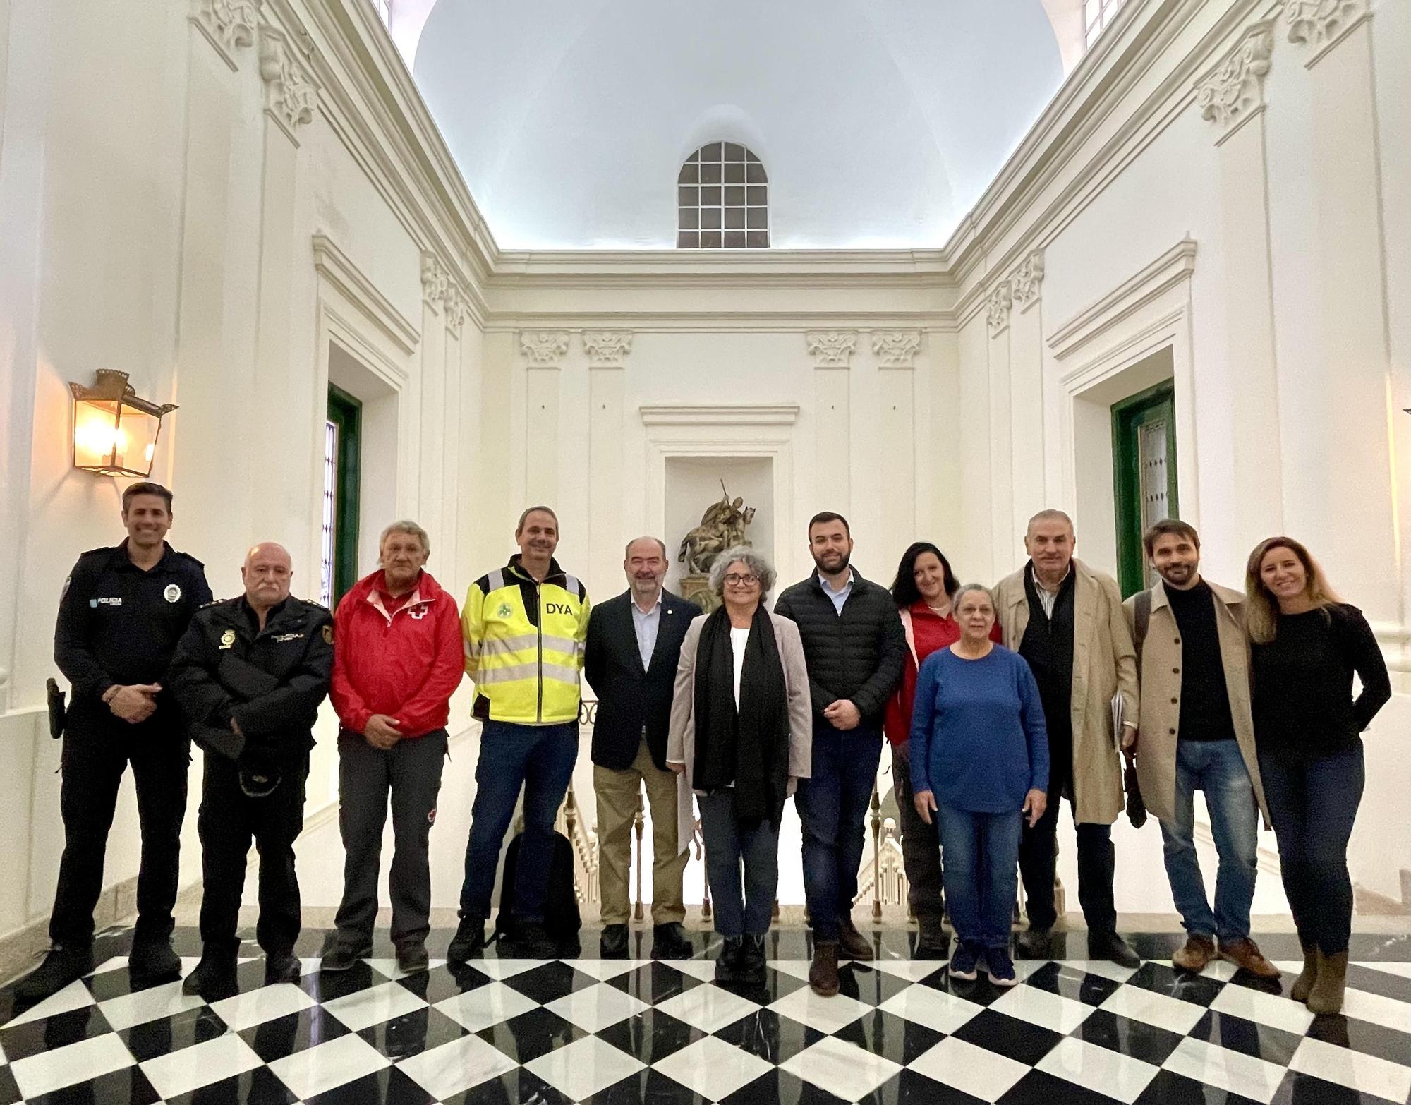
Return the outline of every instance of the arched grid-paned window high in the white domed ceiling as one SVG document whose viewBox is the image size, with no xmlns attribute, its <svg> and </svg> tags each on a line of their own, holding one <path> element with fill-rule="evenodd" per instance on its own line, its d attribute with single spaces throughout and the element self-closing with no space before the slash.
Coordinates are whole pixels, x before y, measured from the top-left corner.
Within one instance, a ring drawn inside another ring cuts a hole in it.
<svg viewBox="0 0 1411 1105">
<path fill-rule="evenodd" d="M 739 143 L 708 143 L 676 178 L 676 246 L 762 250 L 769 246 L 769 178 Z"/>
</svg>

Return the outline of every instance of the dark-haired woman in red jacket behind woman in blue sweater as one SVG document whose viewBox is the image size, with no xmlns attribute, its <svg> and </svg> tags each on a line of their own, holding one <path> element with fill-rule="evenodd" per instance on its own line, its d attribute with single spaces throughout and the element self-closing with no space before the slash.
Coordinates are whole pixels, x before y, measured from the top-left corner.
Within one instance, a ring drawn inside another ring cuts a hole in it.
<svg viewBox="0 0 1411 1105">
<path fill-rule="evenodd" d="M 945 958 L 947 940 L 941 929 L 945 899 L 941 892 L 941 841 L 935 823 L 923 821 L 912 802 L 907 738 L 912 732 L 916 673 L 921 662 L 961 638 L 961 628 L 951 614 L 951 596 L 959 586 L 951 572 L 951 562 L 928 541 L 919 541 L 902 553 L 902 563 L 892 581 L 892 598 L 902 615 L 902 628 L 906 629 L 907 656 L 902 684 L 888 700 L 882 731 L 892 742 L 892 780 L 902 821 L 902 861 L 910 885 L 912 913 L 920 927 L 916 941 L 919 960 Z M 999 641 L 998 624 L 991 636 Z"/>
</svg>

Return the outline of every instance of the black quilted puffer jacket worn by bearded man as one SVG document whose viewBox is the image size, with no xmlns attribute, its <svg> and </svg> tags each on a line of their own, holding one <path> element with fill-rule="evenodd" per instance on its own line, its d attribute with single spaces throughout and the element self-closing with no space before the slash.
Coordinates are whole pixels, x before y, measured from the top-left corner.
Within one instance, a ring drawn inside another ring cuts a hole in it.
<svg viewBox="0 0 1411 1105">
<path fill-rule="evenodd" d="M 880 730 L 886 700 L 906 665 L 906 632 L 892 593 L 854 569 L 852 590 L 840 614 L 816 572 L 785 588 L 775 614 L 799 627 L 814 715 L 821 718 L 838 699 L 849 699 L 864 724 Z"/>
</svg>

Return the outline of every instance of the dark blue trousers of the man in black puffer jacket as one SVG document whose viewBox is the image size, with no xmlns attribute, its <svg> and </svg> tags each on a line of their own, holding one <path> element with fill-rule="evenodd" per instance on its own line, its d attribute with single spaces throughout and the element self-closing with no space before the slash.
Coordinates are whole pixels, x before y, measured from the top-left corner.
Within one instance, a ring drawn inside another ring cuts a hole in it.
<svg viewBox="0 0 1411 1105">
<path fill-rule="evenodd" d="M 882 734 L 859 725 L 842 732 L 813 723 L 813 776 L 799 780 L 803 821 L 803 892 L 814 940 L 837 940 L 852 914 L 864 831 L 882 759 Z"/>
</svg>

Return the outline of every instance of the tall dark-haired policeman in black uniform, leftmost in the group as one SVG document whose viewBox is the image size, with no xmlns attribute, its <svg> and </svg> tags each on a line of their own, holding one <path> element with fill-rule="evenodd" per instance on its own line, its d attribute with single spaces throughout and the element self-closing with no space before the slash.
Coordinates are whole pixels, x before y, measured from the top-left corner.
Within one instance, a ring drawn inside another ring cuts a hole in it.
<svg viewBox="0 0 1411 1105">
<path fill-rule="evenodd" d="M 93 907 L 119 783 L 137 783 L 143 859 L 134 985 L 178 978 L 172 906 L 190 762 L 181 711 L 165 689 L 166 666 L 192 614 L 210 601 L 206 572 L 165 542 L 172 494 L 135 483 L 123 493 L 127 541 L 83 553 L 59 600 L 54 659 L 73 684 L 63 735 L 63 858 L 49 916 L 52 947 L 18 985 L 25 1001 L 48 996 L 93 970 Z"/>
</svg>

